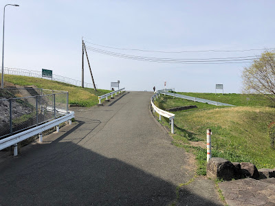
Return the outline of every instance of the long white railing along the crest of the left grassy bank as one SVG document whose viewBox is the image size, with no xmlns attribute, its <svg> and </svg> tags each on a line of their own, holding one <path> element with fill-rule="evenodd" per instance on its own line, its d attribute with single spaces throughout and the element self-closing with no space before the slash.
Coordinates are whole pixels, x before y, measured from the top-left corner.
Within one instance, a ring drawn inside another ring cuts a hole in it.
<svg viewBox="0 0 275 206">
<path fill-rule="evenodd" d="M 42 77 L 42 71 L 33 71 L 33 70 L 28 70 L 28 69 L 17 69 L 17 68 L 4 67 L 4 74 L 11 74 L 11 75 L 17 75 L 17 76 L 29 76 L 29 77 L 34 77 L 34 78 L 43 78 L 43 79 L 47 79 L 47 80 L 49 79 L 49 78 Z M 66 78 L 64 76 L 59 76 L 56 74 L 52 75 L 52 80 L 67 83 L 67 84 L 72 84 L 76 87 L 82 87 L 82 82 L 80 80 L 74 80 L 72 78 Z M 86 83 L 86 82 L 84 82 L 84 87 L 94 88 L 93 84 Z"/>
</svg>

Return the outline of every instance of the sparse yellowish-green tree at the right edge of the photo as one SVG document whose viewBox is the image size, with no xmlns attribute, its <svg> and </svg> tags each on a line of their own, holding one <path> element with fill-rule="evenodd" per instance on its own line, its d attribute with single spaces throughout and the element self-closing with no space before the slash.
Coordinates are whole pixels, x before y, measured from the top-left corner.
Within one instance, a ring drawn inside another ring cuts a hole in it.
<svg viewBox="0 0 275 206">
<path fill-rule="evenodd" d="M 243 92 L 261 93 L 275 102 L 275 53 L 265 51 L 250 67 L 243 68 Z"/>
</svg>

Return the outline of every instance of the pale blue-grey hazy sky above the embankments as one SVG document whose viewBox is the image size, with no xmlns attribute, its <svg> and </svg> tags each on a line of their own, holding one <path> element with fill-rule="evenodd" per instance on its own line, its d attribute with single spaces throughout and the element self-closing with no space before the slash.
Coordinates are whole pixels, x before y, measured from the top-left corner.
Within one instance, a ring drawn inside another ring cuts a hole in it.
<svg viewBox="0 0 275 206">
<path fill-rule="evenodd" d="M 82 43 L 163 52 L 244 50 L 275 47 L 275 1 L 0 1 L 5 64 L 81 80 Z M 228 58 L 250 52 L 152 53 L 109 49 L 110 52 L 154 58 Z M 241 92 L 241 72 L 249 63 L 186 65 L 144 62 L 87 51 L 100 89 L 120 80 L 126 90 L 164 87 L 176 91 Z M 85 59 L 85 82 L 91 82 Z"/>
</svg>

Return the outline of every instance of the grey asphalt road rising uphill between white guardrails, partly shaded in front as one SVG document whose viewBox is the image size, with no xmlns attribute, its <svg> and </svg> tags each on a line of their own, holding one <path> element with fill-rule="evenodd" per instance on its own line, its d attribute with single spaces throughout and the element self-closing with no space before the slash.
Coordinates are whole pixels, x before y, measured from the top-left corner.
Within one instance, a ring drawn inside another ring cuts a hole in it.
<svg viewBox="0 0 275 206">
<path fill-rule="evenodd" d="M 215 205 L 194 187 L 177 197 L 195 166 L 151 114 L 151 95 L 126 92 L 109 105 L 75 108 L 78 124 L 2 157 L 0 205 Z"/>
</svg>

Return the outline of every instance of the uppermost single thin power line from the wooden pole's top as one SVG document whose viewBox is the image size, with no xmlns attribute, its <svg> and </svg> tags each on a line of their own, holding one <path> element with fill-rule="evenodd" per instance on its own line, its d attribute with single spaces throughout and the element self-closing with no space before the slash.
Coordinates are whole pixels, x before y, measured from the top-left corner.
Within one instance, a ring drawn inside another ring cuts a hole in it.
<svg viewBox="0 0 275 206">
<path fill-rule="evenodd" d="M 154 51 L 154 50 L 146 50 L 146 49 L 129 49 L 129 48 L 118 48 L 118 47 L 109 47 L 104 45 L 98 45 L 95 43 L 91 43 L 89 41 L 85 41 L 85 43 L 89 43 L 91 45 L 96 45 L 99 47 L 105 47 L 109 49 L 119 49 L 119 50 L 129 50 L 129 51 L 139 51 L 139 52 L 155 52 L 155 53 L 166 53 L 166 54 L 179 54 L 179 53 L 195 53 L 195 52 L 250 52 L 250 51 L 263 51 L 263 50 L 271 50 L 275 48 L 266 48 L 266 49 L 243 49 L 243 50 L 217 50 L 217 49 L 209 49 L 209 50 L 198 50 L 198 51 L 177 51 L 177 52 L 165 52 L 165 51 Z"/>
</svg>

